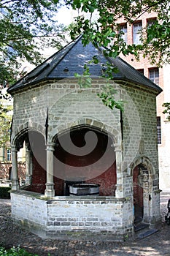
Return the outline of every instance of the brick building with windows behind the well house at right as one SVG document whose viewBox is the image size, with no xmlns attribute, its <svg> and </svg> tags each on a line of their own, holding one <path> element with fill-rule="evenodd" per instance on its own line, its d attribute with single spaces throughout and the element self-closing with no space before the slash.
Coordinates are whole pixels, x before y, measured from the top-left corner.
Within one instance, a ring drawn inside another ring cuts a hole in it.
<svg viewBox="0 0 170 256">
<path fill-rule="evenodd" d="M 131 25 L 127 24 L 123 18 L 117 20 L 120 25 L 120 30 L 124 32 L 123 39 L 128 45 L 138 45 L 141 43 L 140 31 L 146 26 L 150 26 L 157 18 L 156 12 L 144 13 Z M 170 102 L 170 86 L 169 86 L 169 73 L 170 65 L 164 64 L 162 68 L 158 68 L 156 64 L 150 64 L 147 58 L 140 56 L 140 61 L 136 61 L 134 55 L 128 56 L 121 55 L 128 64 L 131 64 L 139 72 L 142 72 L 152 82 L 157 84 L 163 89 L 161 94 L 157 97 L 157 126 L 158 126 L 158 158 L 159 158 L 159 171 L 160 171 L 160 189 L 166 191 L 170 190 L 170 122 L 167 121 L 166 115 L 163 114 L 163 103 Z"/>
</svg>

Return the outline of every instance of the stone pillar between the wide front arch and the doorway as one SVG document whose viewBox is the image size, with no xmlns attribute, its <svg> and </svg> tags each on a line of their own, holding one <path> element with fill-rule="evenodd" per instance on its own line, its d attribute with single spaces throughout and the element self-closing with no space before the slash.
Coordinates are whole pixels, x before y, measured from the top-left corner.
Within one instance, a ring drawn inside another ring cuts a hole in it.
<svg viewBox="0 0 170 256">
<path fill-rule="evenodd" d="M 116 154 L 116 173 L 117 173 L 117 184 L 116 184 L 116 191 L 115 197 L 123 198 L 123 170 L 122 170 L 122 163 L 123 163 L 123 156 L 122 156 L 122 147 L 121 145 L 115 145 L 115 154 Z"/>
</svg>

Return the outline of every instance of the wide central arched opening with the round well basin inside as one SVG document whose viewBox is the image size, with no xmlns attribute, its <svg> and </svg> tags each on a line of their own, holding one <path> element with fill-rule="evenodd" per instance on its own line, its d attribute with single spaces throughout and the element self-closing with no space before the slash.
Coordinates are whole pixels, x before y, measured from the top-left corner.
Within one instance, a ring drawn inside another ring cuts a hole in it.
<svg viewBox="0 0 170 256">
<path fill-rule="evenodd" d="M 67 184 L 99 184 L 99 195 L 115 195 L 116 161 L 112 138 L 96 127 L 74 127 L 55 136 L 55 195 L 68 195 Z"/>
</svg>

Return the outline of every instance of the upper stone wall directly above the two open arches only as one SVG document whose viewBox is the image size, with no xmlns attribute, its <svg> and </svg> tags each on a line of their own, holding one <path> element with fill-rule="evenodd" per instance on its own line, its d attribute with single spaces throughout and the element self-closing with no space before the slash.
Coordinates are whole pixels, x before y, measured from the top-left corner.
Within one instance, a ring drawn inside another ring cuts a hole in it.
<svg viewBox="0 0 170 256">
<path fill-rule="evenodd" d="M 98 121 L 111 130 L 114 127 L 120 132 L 119 110 L 105 107 L 97 96 L 101 86 L 104 86 L 103 79 L 93 81 L 92 89 L 79 89 L 77 80 L 65 79 L 15 94 L 12 139 L 28 126 L 36 126 L 34 128 L 45 135 L 47 108 L 49 140 L 56 133 L 80 124 L 83 118 Z M 114 86 L 117 88 L 117 84 Z"/>
</svg>

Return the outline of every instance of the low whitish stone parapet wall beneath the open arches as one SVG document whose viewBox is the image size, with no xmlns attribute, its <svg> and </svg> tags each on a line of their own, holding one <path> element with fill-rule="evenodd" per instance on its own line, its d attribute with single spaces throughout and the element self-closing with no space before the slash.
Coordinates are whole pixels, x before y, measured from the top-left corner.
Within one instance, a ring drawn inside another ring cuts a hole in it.
<svg viewBox="0 0 170 256">
<path fill-rule="evenodd" d="M 133 233 L 129 200 L 92 196 L 43 200 L 28 192 L 12 192 L 11 200 L 12 217 L 43 238 L 122 240 Z"/>
</svg>

